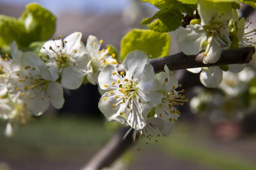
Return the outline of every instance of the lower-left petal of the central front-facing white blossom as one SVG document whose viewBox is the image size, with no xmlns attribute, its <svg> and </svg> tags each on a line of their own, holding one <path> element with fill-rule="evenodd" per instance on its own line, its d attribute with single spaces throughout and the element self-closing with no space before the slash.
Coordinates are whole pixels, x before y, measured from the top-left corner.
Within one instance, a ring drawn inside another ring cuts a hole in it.
<svg viewBox="0 0 256 170">
<path fill-rule="evenodd" d="M 118 95 L 119 91 L 113 91 L 113 94 L 110 94 L 110 92 L 106 92 L 105 94 L 103 94 L 103 96 L 100 98 L 99 100 L 99 110 L 104 114 L 104 116 L 107 119 L 113 119 L 116 116 L 118 116 L 120 114 L 120 109 L 124 109 L 125 104 L 122 105 L 116 105 L 116 107 L 113 107 L 113 104 L 116 104 L 117 102 L 119 102 L 119 98 L 116 99 L 115 97 L 111 97 L 111 96 L 115 96 Z M 109 99 L 104 100 L 104 97 L 111 97 Z"/>
</svg>

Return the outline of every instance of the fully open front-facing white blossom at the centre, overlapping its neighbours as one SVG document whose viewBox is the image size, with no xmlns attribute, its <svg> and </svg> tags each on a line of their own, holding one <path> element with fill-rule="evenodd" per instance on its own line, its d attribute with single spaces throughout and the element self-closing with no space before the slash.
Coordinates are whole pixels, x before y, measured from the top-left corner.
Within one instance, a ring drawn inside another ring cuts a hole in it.
<svg viewBox="0 0 256 170">
<path fill-rule="evenodd" d="M 163 85 L 155 81 L 153 67 L 144 52 L 129 53 L 123 65 L 126 75 L 119 75 L 113 65 L 105 66 L 99 74 L 99 87 L 109 90 L 101 97 L 99 109 L 110 120 L 125 114 L 128 125 L 141 130 L 147 125 L 144 106 L 148 102 L 152 106 L 161 103 Z"/>
</svg>

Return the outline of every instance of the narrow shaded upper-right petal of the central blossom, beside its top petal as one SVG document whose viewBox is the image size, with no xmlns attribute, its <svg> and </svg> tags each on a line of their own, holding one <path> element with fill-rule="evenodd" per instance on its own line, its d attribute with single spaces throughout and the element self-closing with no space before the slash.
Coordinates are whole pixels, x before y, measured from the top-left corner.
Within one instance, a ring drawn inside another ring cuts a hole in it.
<svg viewBox="0 0 256 170">
<path fill-rule="evenodd" d="M 141 90 L 150 90 L 152 88 L 153 82 L 154 68 L 152 65 L 146 64 L 140 77 L 140 82 L 136 87 L 140 88 Z"/>
</svg>

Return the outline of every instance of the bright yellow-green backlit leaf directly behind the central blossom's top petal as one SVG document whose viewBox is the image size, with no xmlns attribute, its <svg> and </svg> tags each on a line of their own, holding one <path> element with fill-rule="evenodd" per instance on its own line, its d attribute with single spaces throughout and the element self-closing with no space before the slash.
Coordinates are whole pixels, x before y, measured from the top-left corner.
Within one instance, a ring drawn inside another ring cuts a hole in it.
<svg viewBox="0 0 256 170">
<path fill-rule="evenodd" d="M 135 50 L 144 51 L 150 59 L 164 57 L 169 54 L 171 38 L 168 33 L 151 30 L 133 29 L 121 40 L 121 59 Z"/>
</svg>

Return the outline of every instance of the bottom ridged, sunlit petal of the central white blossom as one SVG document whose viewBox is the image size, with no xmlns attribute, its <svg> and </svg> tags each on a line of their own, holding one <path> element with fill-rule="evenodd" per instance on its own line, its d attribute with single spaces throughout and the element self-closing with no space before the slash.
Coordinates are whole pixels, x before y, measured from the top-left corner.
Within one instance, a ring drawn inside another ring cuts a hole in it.
<svg viewBox="0 0 256 170">
<path fill-rule="evenodd" d="M 130 103 L 130 102 L 129 102 Z M 138 102 L 137 98 L 134 98 L 131 101 L 130 109 L 133 109 L 132 113 L 128 112 L 127 113 L 127 123 L 130 125 L 132 128 L 136 130 L 141 130 L 145 125 L 147 124 L 145 119 L 143 118 L 143 112 L 141 108 L 141 103 Z"/>
</svg>

